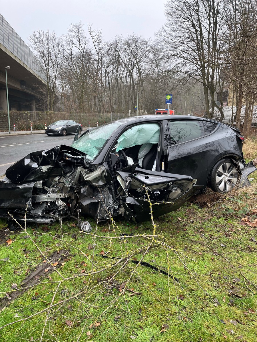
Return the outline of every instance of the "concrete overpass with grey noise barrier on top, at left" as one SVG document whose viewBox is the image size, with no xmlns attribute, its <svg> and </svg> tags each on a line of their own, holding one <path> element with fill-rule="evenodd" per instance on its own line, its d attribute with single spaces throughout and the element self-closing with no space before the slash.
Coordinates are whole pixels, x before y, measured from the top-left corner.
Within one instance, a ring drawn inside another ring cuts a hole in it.
<svg viewBox="0 0 257 342">
<path fill-rule="evenodd" d="M 10 110 L 44 110 L 39 91 L 47 89 L 44 69 L 0 14 L 0 110 L 7 110 L 6 66 Z"/>
</svg>

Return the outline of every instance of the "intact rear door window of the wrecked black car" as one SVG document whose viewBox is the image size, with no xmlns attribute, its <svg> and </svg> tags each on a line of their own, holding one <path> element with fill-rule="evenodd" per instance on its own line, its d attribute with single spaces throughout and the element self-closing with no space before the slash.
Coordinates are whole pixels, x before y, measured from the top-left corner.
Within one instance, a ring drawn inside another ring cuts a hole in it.
<svg viewBox="0 0 257 342">
<path fill-rule="evenodd" d="M 205 135 L 203 121 L 172 120 L 168 122 L 168 128 L 171 145 L 183 143 Z"/>
</svg>

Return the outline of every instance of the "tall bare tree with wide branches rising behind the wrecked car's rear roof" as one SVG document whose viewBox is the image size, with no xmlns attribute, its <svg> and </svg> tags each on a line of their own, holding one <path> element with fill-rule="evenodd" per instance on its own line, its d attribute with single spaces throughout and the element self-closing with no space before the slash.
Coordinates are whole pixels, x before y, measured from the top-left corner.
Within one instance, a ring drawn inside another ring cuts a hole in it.
<svg viewBox="0 0 257 342">
<path fill-rule="evenodd" d="M 167 63 L 177 73 L 187 75 L 203 84 L 205 109 L 208 118 L 214 109 L 223 116 L 223 103 L 217 101 L 222 92 L 222 29 L 223 4 L 221 0 L 168 0 L 167 22 L 159 32 L 166 46 Z"/>
</svg>

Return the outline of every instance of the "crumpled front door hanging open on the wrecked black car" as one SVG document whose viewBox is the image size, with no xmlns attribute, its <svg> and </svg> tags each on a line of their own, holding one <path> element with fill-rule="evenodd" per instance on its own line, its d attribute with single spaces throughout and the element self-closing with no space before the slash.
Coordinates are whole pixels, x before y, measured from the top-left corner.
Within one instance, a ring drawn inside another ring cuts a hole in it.
<svg viewBox="0 0 257 342">
<path fill-rule="evenodd" d="M 127 220 L 142 222 L 150 219 L 149 200 L 155 217 L 181 207 L 195 193 L 190 176 L 149 171 L 136 165 L 117 172 L 118 192 L 122 198 L 123 215 Z M 148 196 L 149 199 L 148 199 Z"/>
</svg>

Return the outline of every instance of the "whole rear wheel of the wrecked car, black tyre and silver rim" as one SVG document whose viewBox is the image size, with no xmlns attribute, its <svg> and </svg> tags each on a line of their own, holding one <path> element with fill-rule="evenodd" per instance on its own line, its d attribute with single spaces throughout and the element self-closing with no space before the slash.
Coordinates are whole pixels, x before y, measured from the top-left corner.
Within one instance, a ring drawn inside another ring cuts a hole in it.
<svg viewBox="0 0 257 342">
<path fill-rule="evenodd" d="M 209 185 L 213 191 L 225 193 L 231 191 L 239 181 L 240 174 L 229 158 L 219 160 L 212 168 Z"/>
</svg>

